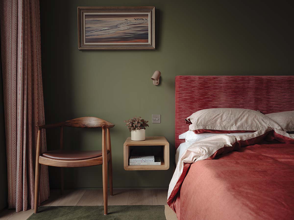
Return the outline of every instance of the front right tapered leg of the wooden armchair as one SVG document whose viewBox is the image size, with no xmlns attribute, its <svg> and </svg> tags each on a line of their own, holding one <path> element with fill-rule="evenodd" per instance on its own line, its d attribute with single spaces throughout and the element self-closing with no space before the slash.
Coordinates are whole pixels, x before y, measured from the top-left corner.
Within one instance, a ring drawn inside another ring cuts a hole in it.
<svg viewBox="0 0 294 220">
<path fill-rule="evenodd" d="M 107 150 L 106 150 L 106 132 L 102 128 L 102 182 L 103 182 L 103 199 L 104 215 L 107 215 Z"/>
</svg>

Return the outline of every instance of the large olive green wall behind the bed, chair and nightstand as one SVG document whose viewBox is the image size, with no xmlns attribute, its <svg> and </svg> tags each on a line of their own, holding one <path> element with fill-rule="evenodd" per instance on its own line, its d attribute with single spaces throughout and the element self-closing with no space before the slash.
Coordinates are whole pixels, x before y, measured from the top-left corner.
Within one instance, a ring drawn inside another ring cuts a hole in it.
<svg viewBox="0 0 294 220">
<path fill-rule="evenodd" d="M 168 187 L 174 162 L 176 75 L 292 75 L 290 5 L 236 1 L 41 1 L 42 71 L 47 123 L 97 116 L 111 131 L 114 187 Z M 156 6 L 156 50 L 79 51 L 77 6 Z M 154 86 L 151 76 L 162 73 Z M 269 85 L 270 86 L 270 85 Z M 208 91 L 213 92 L 213 91 Z M 123 143 L 132 116 L 161 123 L 146 136 L 170 142 L 167 171 L 125 171 Z M 56 140 L 54 137 L 56 136 Z M 59 147 L 59 130 L 47 131 L 49 149 Z M 66 129 L 66 148 L 100 149 L 101 130 Z M 59 169 L 50 168 L 59 187 Z M 101 166 L 66 169 L 66 187 L 101 187 Z"/>
</svg>

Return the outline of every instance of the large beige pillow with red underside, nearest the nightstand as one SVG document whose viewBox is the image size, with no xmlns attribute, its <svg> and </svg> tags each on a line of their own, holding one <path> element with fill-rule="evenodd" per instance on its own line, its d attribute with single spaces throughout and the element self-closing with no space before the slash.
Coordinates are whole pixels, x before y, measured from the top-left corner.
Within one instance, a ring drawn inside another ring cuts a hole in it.
<svg viewBox="0 0 294 220">
<path fill-rule="evenodd" d="M 280 125 L 259 111 L 250 109 L 203 109 L 186 118 L 189 130 L 195 133 L 253 132 L 260 128 L 278 128 Z"/>
</svg>

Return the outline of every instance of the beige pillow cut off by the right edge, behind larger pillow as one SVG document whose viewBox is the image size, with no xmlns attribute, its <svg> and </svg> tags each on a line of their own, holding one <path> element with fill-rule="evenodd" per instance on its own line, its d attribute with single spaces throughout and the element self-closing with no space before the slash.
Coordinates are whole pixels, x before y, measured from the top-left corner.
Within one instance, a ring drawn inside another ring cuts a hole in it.
<svg viewBox="0 0 294 220">
<path fill-rule="evenodd" d="M 266 114 L 273 121 L 277 122 L 283 131 L 294 131 L 294 111 L 282 111 Z"/>
</svg>

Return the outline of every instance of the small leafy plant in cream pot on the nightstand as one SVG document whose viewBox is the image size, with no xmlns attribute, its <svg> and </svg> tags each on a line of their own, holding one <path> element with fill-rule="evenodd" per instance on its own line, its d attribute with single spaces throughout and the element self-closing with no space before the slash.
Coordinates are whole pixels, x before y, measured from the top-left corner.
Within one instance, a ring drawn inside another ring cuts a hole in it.
<svg viewBox="0 0 294 220">
<path fill-rule="evenodd" d="M 147 124 L 148 121 L 145 121 L 141 117 L 135 116 L 131 119 L 124 120 L 126 126 L 131 131 L 131 140 L 132 141 L 144 141 L 145 140 L 145 129 L 149 127 Z"/>
</svg>

